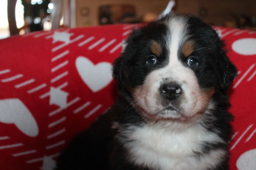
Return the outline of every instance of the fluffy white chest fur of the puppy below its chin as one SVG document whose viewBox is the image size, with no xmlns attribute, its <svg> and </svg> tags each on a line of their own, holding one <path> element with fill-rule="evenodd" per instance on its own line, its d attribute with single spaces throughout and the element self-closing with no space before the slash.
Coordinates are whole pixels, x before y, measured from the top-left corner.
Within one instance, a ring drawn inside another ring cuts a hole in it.
<svg viewBox="0 0 256 170">
<path fill-rule="evenodd" d="M 130 151 L 130 161 L 137 165 L 161 170 L 203 170 L 215 167 L 226 155 L 226 151 L 217 149 L 200 158 L 196 156 L 195 152 L 202 153 L 202 143 L 222 142 L 219 136 L 200 124 L 183 130 L 162 128 L 157 124 L 130 128 L 132 132 L 129 130 L 125 136 L 132 142 L 124 143 Z"/>
</svg>

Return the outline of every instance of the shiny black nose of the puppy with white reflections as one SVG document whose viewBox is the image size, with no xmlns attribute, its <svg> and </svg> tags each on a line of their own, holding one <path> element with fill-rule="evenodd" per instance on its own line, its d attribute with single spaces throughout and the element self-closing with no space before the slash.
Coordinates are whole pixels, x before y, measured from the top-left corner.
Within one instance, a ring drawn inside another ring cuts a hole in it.
<svg viewBox="0 0 256 170">
<path fill-rule="evenodd" d="M 160 87 L 160 90 L 164 98 L 168 100 L 176 99 L 182 91 L 181 87 L 177 83 L 163 84 Z"/>
</svg>

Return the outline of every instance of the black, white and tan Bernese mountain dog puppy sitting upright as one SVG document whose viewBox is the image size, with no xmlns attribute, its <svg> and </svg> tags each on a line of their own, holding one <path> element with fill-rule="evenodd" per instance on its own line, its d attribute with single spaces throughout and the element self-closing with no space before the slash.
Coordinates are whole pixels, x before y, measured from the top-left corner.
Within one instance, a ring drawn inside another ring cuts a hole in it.
<svg viewBox="0 0 256 170">
<path fill-rule="evenodd" d="M 75 137 L 57 169 L 228 169 L 237 75 L 214 29 L 170 13 L 133 30 L 113 64 L 120 97 Z"/>
</svg>

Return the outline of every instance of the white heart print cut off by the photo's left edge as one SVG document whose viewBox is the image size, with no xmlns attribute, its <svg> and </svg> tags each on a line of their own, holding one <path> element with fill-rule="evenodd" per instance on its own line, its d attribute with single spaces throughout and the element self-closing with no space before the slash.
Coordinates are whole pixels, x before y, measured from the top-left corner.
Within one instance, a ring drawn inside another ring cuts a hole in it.
<svg viewBox="0 0 256 170">
<path fill-rule="evenodd" d="M 19 99 L 0 100 L 0 122 L 13 123 L 27 136 L 36 137 L 38 126 L 28 108 Z"/>
</svg>

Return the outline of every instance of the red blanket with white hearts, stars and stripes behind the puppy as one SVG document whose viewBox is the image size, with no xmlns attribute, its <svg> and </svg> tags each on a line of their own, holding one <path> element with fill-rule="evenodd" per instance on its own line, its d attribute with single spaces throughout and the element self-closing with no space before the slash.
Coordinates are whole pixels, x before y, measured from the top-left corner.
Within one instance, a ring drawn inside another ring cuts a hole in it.
<svg viewBox="0 0 256 170">
<path fill-rule="evenodd" d="M 114 102 L 111 63 L 132 25 L 34 32 L 0 41 L 0 167 L 52 170 L 68 141 Z M 256 32 L 215 27 L 239 70 L 230 169 L 256 167 Z"/>
</svg>

